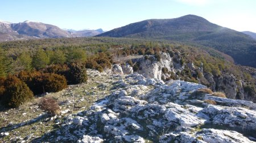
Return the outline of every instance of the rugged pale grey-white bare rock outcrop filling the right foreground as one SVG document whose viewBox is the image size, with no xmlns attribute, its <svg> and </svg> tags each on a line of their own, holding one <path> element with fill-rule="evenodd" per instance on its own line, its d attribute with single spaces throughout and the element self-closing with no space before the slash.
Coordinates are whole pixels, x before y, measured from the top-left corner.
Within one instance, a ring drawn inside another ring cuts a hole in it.
<svg viewBox="0 0 256 143">
<path fill-rule="evenodd" d="M 256 104 L 198 92 L 204 85 L 115 75 L 112 93 L 34 142 L 254 142 Z M 214 105 L 206 102 L 214 101 Z"/>
</svg>

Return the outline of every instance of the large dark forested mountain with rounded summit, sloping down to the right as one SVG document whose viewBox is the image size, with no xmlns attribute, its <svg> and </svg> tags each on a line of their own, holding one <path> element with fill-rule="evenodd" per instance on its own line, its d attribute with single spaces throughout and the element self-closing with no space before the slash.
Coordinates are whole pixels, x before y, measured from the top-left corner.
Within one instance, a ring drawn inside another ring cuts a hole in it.
<svg viewBox="0 0 256 143">
<path fill-rule="evenodd" d="M 256 41 L 251 36 L 210 23 L 196 15 L 144 20 L 97 36 L 190 42 L 222 51 L 238 64 L 256 67 Z"/>
</svg>

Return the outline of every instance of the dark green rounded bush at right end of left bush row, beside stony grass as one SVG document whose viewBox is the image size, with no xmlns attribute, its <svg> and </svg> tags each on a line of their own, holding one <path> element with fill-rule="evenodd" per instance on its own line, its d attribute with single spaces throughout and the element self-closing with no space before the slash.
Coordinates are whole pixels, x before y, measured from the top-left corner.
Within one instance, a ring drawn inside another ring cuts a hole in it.
<svg viewBox="0 0 256 143">
<path fill-rule="evenodd" d="M 87 81 L 88 77 L 85 66 L 79 63 L 71 63 L 68 67 L 68 84 L 80 84 Z"/>
</svg>

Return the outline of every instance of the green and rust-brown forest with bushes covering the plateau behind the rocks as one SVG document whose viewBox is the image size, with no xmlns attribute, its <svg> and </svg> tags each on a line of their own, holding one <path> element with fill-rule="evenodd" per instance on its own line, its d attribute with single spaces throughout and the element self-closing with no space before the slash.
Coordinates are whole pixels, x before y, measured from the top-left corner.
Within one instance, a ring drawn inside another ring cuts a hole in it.
<svg viewBox="0 0 256 143">
<path fill-rule="evenodd" d="M 84 83 L 86 68 L 100 72 L 112 68 L 115 59 L 129 55 L 181 53 L 181 64 L 193 62 L 204 66 L 204 72 L 220 76 L 232 73 L 246 81 L 244 89 L 255 94 L 255 79 L 232 63 L 232 58 L 216 50 L 189 46 L 164 40 L 138 40 L 130 38 L 55 38 L 0 43 L 0 100 L 3 105 L 18 107 L 34 96 L 58 92 L 67 85 Z M 137 64 L 126 61 L 136 71 Z M 123 64 L 123 63 L 120 63 Z M 179 73 L 181 80 L 198 83 L 200 74 L 187 70 Z M 164 70 L 164 69 L 163 69 Z M 167 71 L 166 71 L 167 72 Z M 173 76 L 170 79 L 175 79 Z"/>
</svg>

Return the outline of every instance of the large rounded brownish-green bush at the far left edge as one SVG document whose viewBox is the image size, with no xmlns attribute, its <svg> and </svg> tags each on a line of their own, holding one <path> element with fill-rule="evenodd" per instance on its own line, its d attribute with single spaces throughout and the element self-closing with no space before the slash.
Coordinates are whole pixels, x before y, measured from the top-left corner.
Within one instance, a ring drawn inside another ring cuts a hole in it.
<svg viewBox="0 0 256 143">
<path fill-rule="evenodd" d="M 33 93 L 28 86 L 15 76 L 8 76 L 4 86 L 2 102 L 7 106 L 19 107 L 33 98 Z"/>
</svg>

